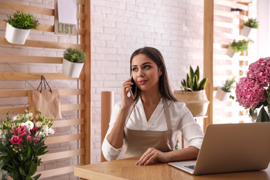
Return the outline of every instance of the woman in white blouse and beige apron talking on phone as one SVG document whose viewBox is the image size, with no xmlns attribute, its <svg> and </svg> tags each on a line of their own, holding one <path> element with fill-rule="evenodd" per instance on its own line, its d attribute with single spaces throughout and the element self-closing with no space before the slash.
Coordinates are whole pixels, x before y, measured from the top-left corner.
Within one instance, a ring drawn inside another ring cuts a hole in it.
<svg viewBox="0 0 270 180">
<path fill-rule="evenodd" d="M 130 78 L 122 84 L 121 102 L 111 113 L 102 143 L 105 158 L 117 159 L 124 149 L 124 158 L 141 156 L 136 165 L 196 159 L 204 133 L 186 105 L 174 98 L 159 50 L 144 47 L 134 51 L 130 71 L 137 87 L 135 98 L 128 95 L 133 85 Z M 189 146 L 174 150 L 180 131 Z"/>
</svg>

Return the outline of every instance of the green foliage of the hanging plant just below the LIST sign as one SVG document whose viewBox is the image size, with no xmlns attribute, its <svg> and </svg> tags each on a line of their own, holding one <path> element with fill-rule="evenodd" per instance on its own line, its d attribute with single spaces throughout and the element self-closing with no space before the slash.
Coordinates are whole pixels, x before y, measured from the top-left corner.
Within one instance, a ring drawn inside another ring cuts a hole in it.
<svg viewBox="0 0 270 180">
<path fill-rule="evenodd" d="M 84 51 L 77 48 L 66 48 L 66 51 L 64 51 L 64 58 L 70 62 L 84 63 L 86 55 Z"/>
</svg>

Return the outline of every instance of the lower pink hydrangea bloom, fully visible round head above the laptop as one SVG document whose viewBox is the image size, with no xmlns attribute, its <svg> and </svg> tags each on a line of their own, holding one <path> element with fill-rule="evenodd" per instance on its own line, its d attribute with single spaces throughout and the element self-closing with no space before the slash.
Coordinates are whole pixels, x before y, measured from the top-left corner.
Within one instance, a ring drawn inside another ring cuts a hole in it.
<svg viewBox="0 0 270 180">
<path fill-rule="evenodd" d="M 264 87 L 251 78 L 241 78 L 236 84 L 237 101 L 245 108 L 255 109 L 259 102 L 264 102 Z"/>
</svg>

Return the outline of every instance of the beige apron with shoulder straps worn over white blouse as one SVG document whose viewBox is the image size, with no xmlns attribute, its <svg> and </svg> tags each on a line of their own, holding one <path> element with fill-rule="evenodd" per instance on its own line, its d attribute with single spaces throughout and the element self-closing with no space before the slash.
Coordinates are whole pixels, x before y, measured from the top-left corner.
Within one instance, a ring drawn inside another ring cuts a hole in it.
<svg viewBox="0 0 270 180">
<path fill-rule="evenodd" d="M 169 152 L 174 149 L 172 143 L 172 124 L 170 122 L 170 113 L 168 102 L 165 98 L 163 99 L 165 118 L 167 123 L 167 131 L 144 131 L 144 130 L 132 130 L 124 129 L 124 158 L 141 156 L 149 148 L 154 147 L 156 150 L 161 152 Z M 127 120 L 132 112 L 134 106 L 129 110 Z M 127 124 L 126 120 L 126 124 Z"/>
</svg>

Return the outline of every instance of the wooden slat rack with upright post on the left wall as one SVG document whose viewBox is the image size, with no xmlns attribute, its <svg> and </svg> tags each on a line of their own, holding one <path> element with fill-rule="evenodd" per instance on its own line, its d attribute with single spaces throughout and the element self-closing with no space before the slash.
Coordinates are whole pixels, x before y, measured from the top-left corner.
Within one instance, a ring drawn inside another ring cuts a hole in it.
<svg viewBox="0 0 270 180">
<path fill-rule="evenodd" d="M 78 96 L 79 104 L 62 104 L 61 111 L 75 111 L 80 112 L 80 117 L 55 120 L 53 128 L 73 127 L 76 126 L 80 129 L 78 134 L 67 134 L 67 135 L 55 135 L 46 138 L 46 145 L 55 143 L 66 143 L 71 141 L 80 142 L 80 146 L 76 150 L 66 150 L 61 152 L 48 152 L 42 156 L 42 161 L 55 161 L 60 159 L 71 158 L 74 156 L 80 157 L 78 165 L 91 163 L 91 132 L 90 132 L 90 116 L 91 116 L 91 91 L 90 91 L 90 80 L 91 80 L 91 63 L 90 63 L 90 0 L 77 0 L 78 9 L 80 12 L 77 13 L 77 19 L 79 20 L 80 26 L 76 28 L 76 35 L 79 39 L 79 44 L 71 43 L 60 43 L 50 41 L 39 41 L 39 40 L 26 40 L 24 45 L 20 46 L 24 48 L 51 48 L 60 49 L 72 47 L 82 49 L 87 55 L 87 62 L 84 64 L 84 69 L 80 75 L 80 78 L 68 78 L 62 73 L 25 73 L 25 72 L 0 72 L 0 82 L 6 81 L 40 81 L 40 76 L 44 75 L 46 80 L 75 80 L 77 81 L 78 89 L 59 89 L 60 97 L 64 96 Z M 10 3 L 8 1 L 0 1 L 0 10 L 22 10 L 24 12 L 30 12 L 34 15 L 48 15 L 54 17 L 55 10 L 49 8 L 40 8 L 36 6 L 28 6 L 19 3 Z M 0 27 L 6 27 L 6 22 L 0 19 Z M 40 24 L 37 31 L 40 32 L 54 32 L 53 25 Z M 56 35 L 57 36 L 57 35 Z M 0 45 L 8 48 L 13 48 L 13 44 L 6 41 L 5 37 L 0 37 Z M 45 57 L 45 56 L 30 56 L 20 54 L 1 54 L 0 63 L 23 63 L 23 64 L 62 64 L 62 57 Z M 36 88 L 36 87 L 35 87 Z M 0 89 L 0 100 L 4 98 L 8 102 L 8 98 L 26 98 L 28 91 L 33 89 Z M 24 110 L 28 109 L 27 103 L 25 106 L 10 106 L 2 105 L 0 107 L 0 115 L 6 114 L 6 111 L 10 111 L 10 114 L 23 114 Z M 54 176 L 60 176 L 67 173 L 73 172 L 75 165 L 69 165 L 66 167 L 56 168 L 53 170 L 42 170 L 37 172 L 42 173 L 42 178 L 53 179 Z"/>
</svg>

